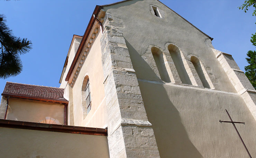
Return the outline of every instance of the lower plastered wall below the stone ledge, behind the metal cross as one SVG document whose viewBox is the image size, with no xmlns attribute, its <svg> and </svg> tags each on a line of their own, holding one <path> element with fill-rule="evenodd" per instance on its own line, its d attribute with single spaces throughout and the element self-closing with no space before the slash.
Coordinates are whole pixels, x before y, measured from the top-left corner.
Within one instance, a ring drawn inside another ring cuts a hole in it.
<svg viewBox="0 0 256 158">
<path fill-rule="evenodd" d="M 139 81 L 147 117 L 161 158 L 247 158 L 225 109 L 252 157 L 256 157 L 256 121 L 242 97 L 185 86 Z"/>
</svg>

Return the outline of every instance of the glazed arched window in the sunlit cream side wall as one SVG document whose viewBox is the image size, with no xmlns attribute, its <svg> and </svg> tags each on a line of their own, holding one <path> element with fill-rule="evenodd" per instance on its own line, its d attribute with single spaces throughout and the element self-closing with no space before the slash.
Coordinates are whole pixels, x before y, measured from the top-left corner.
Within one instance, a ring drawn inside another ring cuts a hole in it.
<svg viewBox="0 0 256 158">
<path fill-rule="evenodd" d="M 91 106 L 92 106 L 92 101 L 91 101 L 90 81 L 89 81 L 89 77 L 85 76 L 83 85 L 82 85 L 82 107 L 83 107 L 84 118 L 90 112 Z"/>
</svg>

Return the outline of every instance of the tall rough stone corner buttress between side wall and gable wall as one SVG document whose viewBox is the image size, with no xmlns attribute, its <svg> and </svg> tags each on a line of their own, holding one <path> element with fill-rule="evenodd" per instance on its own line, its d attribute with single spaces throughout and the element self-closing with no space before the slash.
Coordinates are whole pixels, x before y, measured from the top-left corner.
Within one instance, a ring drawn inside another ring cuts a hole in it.
<svg viewBox="0 0 256 158">
<path fill-rule="evenodd" d="M 148 122 L 121 19 L 106 12 L 101 37 L 102 66 L 108 111 L 110 158 L 159 158 Z"/>
</svg>

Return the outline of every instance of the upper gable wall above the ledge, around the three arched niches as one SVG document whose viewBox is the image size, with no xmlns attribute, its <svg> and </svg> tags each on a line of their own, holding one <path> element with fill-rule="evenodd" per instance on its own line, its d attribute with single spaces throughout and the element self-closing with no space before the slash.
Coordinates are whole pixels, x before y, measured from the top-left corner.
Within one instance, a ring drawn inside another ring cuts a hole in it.
<svg viewBox="0 0 256 158">
<path fill-rule="evenodd" d="M 161 9 L 163 18 L 153 15 L 150 5 Z M 200 58 L 208 74 L 212 75 L 213 85 L 216 84 L 218 90 L 236 92 L 216 59 L 209 38 L 164 4 L 156 0 L 133 0 L 104 7 L 104 10 L 111 13 L 113 17 L 111 22 L 118 23 L 116 26 L 124 32 L 137 78 L 159 81 L 159 76 L 152 67 L 155 64 L 154 60 L 150 61 L 150 57 L 146 55 L 147 51 L 151 49 L 149 46 L 157 46 L 163 52 L 170 54 L 168 44 L 174 44 L 182 52 L 184 63 L 192 65 L 189 61 L 191 55 Z M 200 26 L 198 27 L 200 28 Z M 191 77 L 192 80 L 194 80 L 193 77 Z"/>
</svg>

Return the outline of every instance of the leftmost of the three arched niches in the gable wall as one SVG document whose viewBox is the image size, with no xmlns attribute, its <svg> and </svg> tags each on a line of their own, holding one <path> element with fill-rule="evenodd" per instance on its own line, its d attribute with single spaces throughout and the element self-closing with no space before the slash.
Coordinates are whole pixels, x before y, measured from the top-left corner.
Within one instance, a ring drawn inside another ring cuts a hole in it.
<svg viewBox="0 0 256 158">
<path fill-rule="evenodd" d="M 152 47 L 151 52 L 153 54 L 153 57 L 154 57 L 154 60 L 156 63 L 156 67 L 158 69 L 161 80 L 164 82 L 170 83 L 171 80 L 170 80 L 170 77 L 168 75 L 168 72 L 167 72 L 167 69 L 165 66 L 163 52 L 161 52 L 161 50 L 156 47 Z"/>
</svg>

